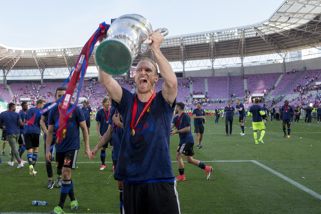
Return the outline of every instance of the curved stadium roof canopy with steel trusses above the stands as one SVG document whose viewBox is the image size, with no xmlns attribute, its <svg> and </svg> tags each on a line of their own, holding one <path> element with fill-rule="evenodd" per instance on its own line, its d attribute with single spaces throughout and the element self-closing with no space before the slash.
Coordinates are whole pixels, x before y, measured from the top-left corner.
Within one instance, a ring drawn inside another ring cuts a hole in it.
<svg viewBox="0 0 321 214">
<path fill-rule="evenodd" d="M 165 37 L 161 51 L 170 62 L 279 54 L 321 46 L 321 0 L 286 0 L 265 21 L 238 28 Z M 26 49 L 0 44 L 0 67 L 10 70 L 68 67 L 72 70 L 82 47 Z M 95 51 L 95 50 L 94 50 Z M 144 57 L 153 58 L 149 50 Z M 134 62 L 134 64 L 137 61 Z M 97 66 L 91 57 L 89 66 Z"/>
</svg>

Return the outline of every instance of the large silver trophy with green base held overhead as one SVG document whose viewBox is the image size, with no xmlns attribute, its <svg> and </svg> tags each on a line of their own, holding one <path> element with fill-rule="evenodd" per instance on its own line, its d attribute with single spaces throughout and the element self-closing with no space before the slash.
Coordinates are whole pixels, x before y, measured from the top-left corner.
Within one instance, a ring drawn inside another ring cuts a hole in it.
<svg viewBox="0 0 321 214">
<path fill-rule="evenodd" d="M 157 29 L 166 36 L 166 28 Z M 109 26 L 107 38 L 97 47 L 96 61 L 100 69 L 112 75 L 129 71 L 133 61 L 143 56 L 152 44 L 154 33 L 147 19 L 138 14 L 127 14 Z"/>
</svg>

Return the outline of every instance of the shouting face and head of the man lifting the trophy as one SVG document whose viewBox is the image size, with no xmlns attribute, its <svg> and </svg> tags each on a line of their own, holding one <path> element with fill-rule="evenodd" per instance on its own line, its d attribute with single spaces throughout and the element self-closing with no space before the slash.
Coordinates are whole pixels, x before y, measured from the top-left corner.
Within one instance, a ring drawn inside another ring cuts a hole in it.
<svg viewBox="0 0 321 214">
<path fill-rule="evenodd" d="M 153 89 L 158 76 L 155 76 L 155 67 L 152 63 L 143 60 L 136 67 L 135 83 L 137 91 L 141 94 L 147 93 Z"/>
</svg>

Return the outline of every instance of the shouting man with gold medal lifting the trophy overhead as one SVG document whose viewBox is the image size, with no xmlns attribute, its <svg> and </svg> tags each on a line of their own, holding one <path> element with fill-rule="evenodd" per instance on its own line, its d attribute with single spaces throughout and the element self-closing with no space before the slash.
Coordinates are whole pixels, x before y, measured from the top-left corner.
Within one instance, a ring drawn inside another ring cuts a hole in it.
<svg viewBox="0 0 321 214">
<path fill-rule="evenodd" d="M 136 94 L 120 87 L 110 74 L 99 70 L 99 80 L 123 119 L 124 136 L 114 177 L 123 180 L 125 213 L 180 213 L 169 154 L 177 79 L 160 52 L 163 38 L 157 31 L 150 36 L 151 49 L 164 78 L 159 92 L 155 91 L 159 79 L 157 65 L 150 59 L 137 64 Z"/>
</svg>

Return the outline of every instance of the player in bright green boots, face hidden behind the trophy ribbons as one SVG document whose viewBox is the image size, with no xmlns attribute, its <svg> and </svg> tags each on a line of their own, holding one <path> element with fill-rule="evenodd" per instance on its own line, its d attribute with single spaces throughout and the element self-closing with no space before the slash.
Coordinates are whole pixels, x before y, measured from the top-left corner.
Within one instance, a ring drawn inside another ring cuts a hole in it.
<svg viewBox="0 0 321 214">
<path fill-rule="evenodd" d="M 64 89 L 58 88 L 56 92 L 56 99 L 59 100 L 65 95 L 66 91 Z M 47 148 L 50 147 L 53 140 L 53 133 L 55 129 L 55 124 L 57 123 L 60 115 L 60 108 L 62 106 L 61 101 L 59 105 L 53 107 L 48 115 L 48 131 L 47 131 Z M 72 104 L 69 103 L 68 109 L 72 108 Z M 90 149 L 89 149 L 89 137 L 85 122 L 85 117 L 83 116 L 80 107 L 76 106 L 74 111 L 69 115 L 66 121 L 66 133 L 65 138 L 56 144 L 56 167 L 60 168 L 63 175 L 63 182 L 60 191 L 60 200 L 58 205 L 54 208 L 50 214 L 61 214 L 63 213 L 65 200 L 67 195 L 70 197 L 71 210 L 78 210 L 78 202 L 74 196 L 74 184 L 71 179 L 71 171 L 76 167 L 76 158 L 78 150 L 80 149 L 79 140 L 79 127 L 82 129 L 82 136 L 85 140 L 85 156 L 88 155 L 90 160 Z M 51 163 L 51 151 L 46 153 L 46 159 Z"/>
</svg>

